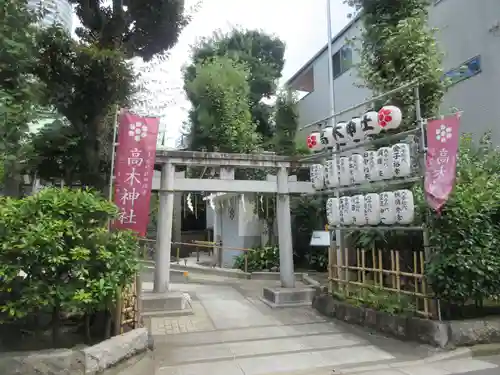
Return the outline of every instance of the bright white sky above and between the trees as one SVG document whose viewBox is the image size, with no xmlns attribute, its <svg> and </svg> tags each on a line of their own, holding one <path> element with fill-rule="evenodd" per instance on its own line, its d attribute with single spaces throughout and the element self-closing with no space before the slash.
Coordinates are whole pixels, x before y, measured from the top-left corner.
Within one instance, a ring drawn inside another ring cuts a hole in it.
<svg viewBox="0 0 500 375">
<path fill-rule="evenodd" d="M 197 2 L 185 1 L 186 7 Z M 152 95 L 148 99 L 152 102 L 152 109 L 166 107 L 162 111 L 161 127 L 166 131 L 167 146 L 175 146 L 183 121 L 187 118 L 189 102 L 182 90 L 182 67 L 189 63 L 191 46 L 198 39 L 210 36 L 214 31 L 228 31 L 234 27 L 259 29 L 278 36 L 286 44 L 283 83 L 326 44 L 326 1 L 203 0 L 192 22 L 170 51 L 168 61 L 155 64 L 150 72 L 154 77 L 151 79 L 152 91 L 160 90 L 162 95 Z M 343 4 L 343 0 L 330 1 L 332 31 L 336 34 L 348 22 L 349 7 Z M 77 25 L 77 20 L 74 25 Z"/>
</svg>

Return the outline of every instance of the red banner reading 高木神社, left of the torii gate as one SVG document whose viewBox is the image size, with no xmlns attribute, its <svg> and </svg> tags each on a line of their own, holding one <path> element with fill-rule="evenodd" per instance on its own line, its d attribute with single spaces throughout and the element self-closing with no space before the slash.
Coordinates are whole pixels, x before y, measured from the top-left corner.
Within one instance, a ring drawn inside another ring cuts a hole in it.
<svg viewBox="0 0 500 375">
<path fill-rule="evenodd" d="M 113 228 L 146 234 L 160 119 L 122 112 L 118 119 L 114 202 L 120 209 Z"/>
</svg>

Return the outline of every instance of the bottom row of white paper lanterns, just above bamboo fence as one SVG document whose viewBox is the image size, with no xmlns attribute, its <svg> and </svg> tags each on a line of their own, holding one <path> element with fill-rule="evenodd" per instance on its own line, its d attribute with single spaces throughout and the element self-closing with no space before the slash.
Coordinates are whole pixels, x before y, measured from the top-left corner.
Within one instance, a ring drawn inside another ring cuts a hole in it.
<svg viewBox="0 0 500 375">
<path fill-rule="evenodd" d="M 415 218 L 413 193 L 402 189 L 394 192 L 369 193 L 352 197 L 329 198 L 326 202 L 328 225 L 408 225 Z"/>
</svg>

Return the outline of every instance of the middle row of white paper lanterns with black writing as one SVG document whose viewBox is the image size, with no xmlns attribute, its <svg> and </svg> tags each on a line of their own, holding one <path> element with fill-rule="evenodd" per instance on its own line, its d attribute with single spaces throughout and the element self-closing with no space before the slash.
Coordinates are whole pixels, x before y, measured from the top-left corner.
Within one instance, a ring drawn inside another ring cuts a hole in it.
<svg viewBox="0 0 500 375">
<path fill-rule="evenodd" d="M 403 178 L 411 175 L 411 172 L 411 151 L 406 143 L 365 151 L 363 155 L 334 155 L 324 165 L 313 164 L 310 167 L 315 190 Z"/>
</svg>

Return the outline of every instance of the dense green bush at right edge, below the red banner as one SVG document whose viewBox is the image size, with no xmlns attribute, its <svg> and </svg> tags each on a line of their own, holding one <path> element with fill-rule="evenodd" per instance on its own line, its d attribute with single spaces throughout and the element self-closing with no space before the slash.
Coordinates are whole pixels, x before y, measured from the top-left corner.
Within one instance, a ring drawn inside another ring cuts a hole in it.
<svg viewBox="0 0 500 375">
<path fill-rule="evenodd" d="M 500 297 L 500 151 L 487 134 L 479 145 L 463 136 L 453 193 L 432 214 L 435 250 L 427 265 L 433 291 L 446 302 Z M 424 209 L 421 206 L 421 209 Z"/>
</svg>

